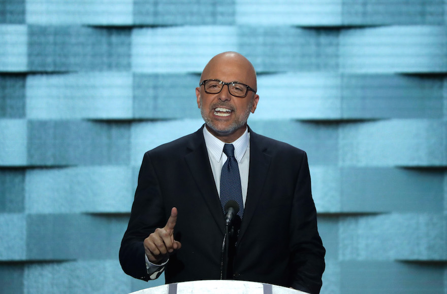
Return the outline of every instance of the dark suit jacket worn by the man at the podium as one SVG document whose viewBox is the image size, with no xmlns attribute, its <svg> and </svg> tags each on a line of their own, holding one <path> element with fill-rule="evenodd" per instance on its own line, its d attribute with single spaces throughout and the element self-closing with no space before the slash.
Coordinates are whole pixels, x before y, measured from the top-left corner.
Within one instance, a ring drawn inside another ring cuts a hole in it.
<svg viewBox="0 0 447 294">
<path fill-rule="evenodd" d="M 182 248 L 170 256 L 166 283 L 220 278 L 225 224 L 202 128 L 144 155 L 119 252 L 124 272 L 135 278 L 149 279 L 143 240 L 166 225 L 172 207 L 178 209 L 174 237 Z M 306 153 L 249 132 L 248 191 L 233 279 L 317 293 L 325 249 Z"/>
</svg>

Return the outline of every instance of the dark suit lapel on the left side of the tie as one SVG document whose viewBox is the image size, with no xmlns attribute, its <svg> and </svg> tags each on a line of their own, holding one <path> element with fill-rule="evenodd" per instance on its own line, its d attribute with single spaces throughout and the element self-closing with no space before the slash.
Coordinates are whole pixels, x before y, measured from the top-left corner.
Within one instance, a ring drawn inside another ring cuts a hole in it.
<svg viewBox="0 0 447 294">
<path fill-rule="evenodd" d="M 213 172 L 209 163 L 205 139 L 203 138 L 203 127 L 194 133 L 194 136 L 191 138 L 191 141 L 187 146 L 187 149 L 188 151 L 185 155 L 185 160 L 191 175 L 194 177 L 196 185 L 223 235 L 224 223 L 222 207 L 220 205 Z"/>
</svg>

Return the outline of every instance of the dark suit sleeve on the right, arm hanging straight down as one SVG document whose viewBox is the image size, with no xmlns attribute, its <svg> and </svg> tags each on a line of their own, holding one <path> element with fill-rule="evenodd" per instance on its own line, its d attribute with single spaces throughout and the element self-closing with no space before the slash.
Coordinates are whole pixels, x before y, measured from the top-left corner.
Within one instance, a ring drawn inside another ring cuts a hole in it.
<svg viewBox="0 0 447 294">
<path fill-rule="evenodd" d="M 292 204 L 291 270 L 292 287 L 320 293 L 326 253 L 317 231 L 316 210 L 312 199 L 309 165 L 303 152 Z"/>
</svg>

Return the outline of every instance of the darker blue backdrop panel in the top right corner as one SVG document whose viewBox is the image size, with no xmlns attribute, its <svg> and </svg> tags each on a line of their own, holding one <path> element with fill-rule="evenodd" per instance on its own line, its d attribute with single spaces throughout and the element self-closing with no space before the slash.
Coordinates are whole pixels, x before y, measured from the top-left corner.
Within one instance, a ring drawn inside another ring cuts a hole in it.
<svg viewBox="0 0 447 294">
<path fill-rule="evenodd" d="M 444 24 L 443 0 L 343 0 L 343 24 Z"/>
</svg>

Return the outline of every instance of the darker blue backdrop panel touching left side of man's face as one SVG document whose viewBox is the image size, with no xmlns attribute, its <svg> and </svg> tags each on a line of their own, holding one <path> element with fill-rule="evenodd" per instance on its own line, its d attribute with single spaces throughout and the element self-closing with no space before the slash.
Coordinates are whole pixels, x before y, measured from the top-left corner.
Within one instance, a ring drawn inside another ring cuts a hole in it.
<svg viewBox="0 0 447 294">
<path fill-rule="evenodd" d="M 200 119 L 196 87 L 199 75 L 134 75 L 134 118 Z"/>
</svg>

